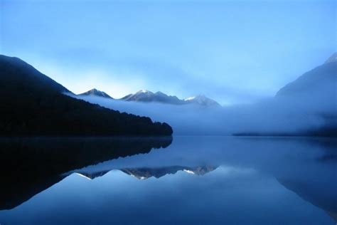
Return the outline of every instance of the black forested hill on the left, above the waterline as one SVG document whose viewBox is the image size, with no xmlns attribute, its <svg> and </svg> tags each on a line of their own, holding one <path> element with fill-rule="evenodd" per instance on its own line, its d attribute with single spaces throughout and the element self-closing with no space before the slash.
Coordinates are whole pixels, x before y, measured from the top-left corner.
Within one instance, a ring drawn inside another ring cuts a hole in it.
<svg viewBox="0 0 337 225">
<path fill-rule="evenodd" d="M 171 127 L 102 108 L 70 92 L 19 58 L 0 55 L 0 135 L 171 135 Z"/>
</svg>

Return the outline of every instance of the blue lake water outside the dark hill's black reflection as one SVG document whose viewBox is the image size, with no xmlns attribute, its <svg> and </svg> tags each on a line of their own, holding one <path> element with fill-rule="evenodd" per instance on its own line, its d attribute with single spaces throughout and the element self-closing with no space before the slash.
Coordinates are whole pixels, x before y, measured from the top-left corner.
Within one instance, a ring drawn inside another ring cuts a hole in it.
<svg viewBox="0 0 337 225">
<path fill-rule="evenodd" d="M 69 167 L 0 222 L 335 224 L 336 156 L 334 139 L 175 137 L 165 150 Z"/>
</svg>

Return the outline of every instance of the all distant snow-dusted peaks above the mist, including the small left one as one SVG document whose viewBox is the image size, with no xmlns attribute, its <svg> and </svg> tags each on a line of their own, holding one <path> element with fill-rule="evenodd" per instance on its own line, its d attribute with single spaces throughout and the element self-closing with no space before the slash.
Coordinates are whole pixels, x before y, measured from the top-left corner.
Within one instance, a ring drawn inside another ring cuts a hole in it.
<svg viewBox="0 0 337 225">
<path fill-rule="evenodd" d="M 87 91 L 86 93 L 82 93 L 79 96 L 97 96 L 103 98 L 111 98 L 105 92 L 92 89 Z M 153 93 L 149 90 L 139 90 L 137 93 L 129 94 L 120 98 L 119 100 L 129 101 L 129 102 L 139 102 L 139 103 L 165 103 L 171 105 L 200 105 L 203 107 L 219 107 L 220 104 L 217 103 L 215 100 L 205 97 L 205 95 L 197 95 L 195 97 L 186 98 L 186 99 L 179 99 L 176 96 L 166 95 L 161 91 Z"/>
</svg>

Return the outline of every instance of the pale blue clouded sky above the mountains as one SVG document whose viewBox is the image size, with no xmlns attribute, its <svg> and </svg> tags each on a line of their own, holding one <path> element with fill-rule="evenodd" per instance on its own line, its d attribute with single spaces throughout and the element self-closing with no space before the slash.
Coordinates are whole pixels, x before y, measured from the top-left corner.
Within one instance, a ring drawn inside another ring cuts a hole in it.
<svg viewBox="0 0 337 225">
<path fill-rule="evenodd" d="M 336 51 L 334 0 L 0 2 L 0 52 L 75 93 L 251 103 Z"/>
</svg>

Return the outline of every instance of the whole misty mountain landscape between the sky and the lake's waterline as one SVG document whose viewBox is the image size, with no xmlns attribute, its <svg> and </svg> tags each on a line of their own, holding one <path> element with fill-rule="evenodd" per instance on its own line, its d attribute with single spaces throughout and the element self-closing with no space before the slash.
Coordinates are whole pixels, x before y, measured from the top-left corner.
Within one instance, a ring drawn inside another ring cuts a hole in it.
<svg viewBox="0 0 337 225">
<path fill-rule="evenodd" d="M 337 136 L 337 53 L 281 87 L 273 98 L 221 106 L 139 90 L 114 99 L 75 95 L 19 58 L 0 56 L 1 136 Z M 169 112 L 169 113 L 168 113 Z"/>
</svg>

